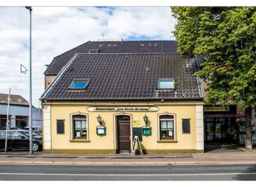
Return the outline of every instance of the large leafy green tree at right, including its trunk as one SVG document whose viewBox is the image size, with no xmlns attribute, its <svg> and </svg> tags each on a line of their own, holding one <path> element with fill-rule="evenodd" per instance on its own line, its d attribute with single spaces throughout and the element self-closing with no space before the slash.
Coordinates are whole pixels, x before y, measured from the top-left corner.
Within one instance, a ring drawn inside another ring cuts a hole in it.
<svg viewBox="0 0 256 187">
<path fill-rule="evenodd" d="M 202 58 L 195 73 L 207 81 L 207 101 L 245 107 L 246 149 L 252 150 L 251 115 L 256 104 L 256 8 L 171 7 L 182 56 Z"/>
</svg>

